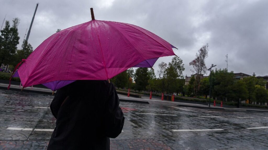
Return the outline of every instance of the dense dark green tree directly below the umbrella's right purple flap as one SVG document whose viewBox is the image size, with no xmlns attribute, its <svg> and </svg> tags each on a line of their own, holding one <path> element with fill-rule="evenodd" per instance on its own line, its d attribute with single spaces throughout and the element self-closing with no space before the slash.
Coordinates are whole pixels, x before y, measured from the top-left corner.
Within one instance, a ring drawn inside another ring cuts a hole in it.
<svg viewBox="0 0 268 150">
<path fill-rule="evenodd" d="M 136 82 L 135 90 L 145 91 L 149 80 L 148 68 L 137 68 L 134 77 Z"/>
</svg>

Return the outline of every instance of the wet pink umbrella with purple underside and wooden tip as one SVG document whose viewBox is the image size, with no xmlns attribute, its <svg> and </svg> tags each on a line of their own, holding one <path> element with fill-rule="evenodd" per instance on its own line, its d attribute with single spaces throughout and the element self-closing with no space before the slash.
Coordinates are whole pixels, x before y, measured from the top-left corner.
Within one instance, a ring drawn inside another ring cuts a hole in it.
<svg viewBox="0 0 268 150">
<path fill-rule="evenodd" d="M 131 67 L 152 67 L 175 55 L 172 45 L 141 27 L 92 20 L 61 30 L 42 42 L 17 71 L 23 87 L 57 90 L 76 80 L 109 80 Z"/>
</svg>

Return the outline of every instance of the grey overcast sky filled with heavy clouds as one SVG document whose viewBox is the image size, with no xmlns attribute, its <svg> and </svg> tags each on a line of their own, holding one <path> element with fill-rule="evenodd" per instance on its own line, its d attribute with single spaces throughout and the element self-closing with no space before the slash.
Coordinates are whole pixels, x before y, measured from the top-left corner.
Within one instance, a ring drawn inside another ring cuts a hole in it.
<svg viewBox="0 0 268 150">
<path fill-rule="evenodd" d="M 177 49 L 184 63 L 184 76 L 191 75 L 189 62 L 204 44 L 209 44 L 207 67 L 226 68 L 235 73 L 268 75 L 268 1 L 267 0 L 0 0 L 0 22 L 20 19 L 21 48 L 25 31 L 39 6 L 28 42 L 35 49 L 57 29 L 66 29 L 95 19 L 131 23 L 147 29 Z M 4 26 L 4 25 L 3 25 Z M 159 58 L 157 65 L 172 56 Z M 209 74 L 209 73 L 208 73 Z"/>
</svg>

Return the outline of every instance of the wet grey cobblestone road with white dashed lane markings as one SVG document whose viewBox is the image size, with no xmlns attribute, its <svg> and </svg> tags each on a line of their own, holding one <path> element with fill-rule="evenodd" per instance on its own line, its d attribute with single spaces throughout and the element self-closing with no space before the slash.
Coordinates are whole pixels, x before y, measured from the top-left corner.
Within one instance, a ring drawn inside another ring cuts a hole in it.
<svg viewBox="0 0 268 150">
<path fill-rule="evenodd" d="M 0 89 L 0 150 L 46 149 L 52 95 Z M 123 132 L 111 149 L 268 149 L 268 113 L 120 102 Z"/>
</svg>

